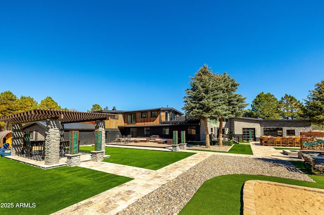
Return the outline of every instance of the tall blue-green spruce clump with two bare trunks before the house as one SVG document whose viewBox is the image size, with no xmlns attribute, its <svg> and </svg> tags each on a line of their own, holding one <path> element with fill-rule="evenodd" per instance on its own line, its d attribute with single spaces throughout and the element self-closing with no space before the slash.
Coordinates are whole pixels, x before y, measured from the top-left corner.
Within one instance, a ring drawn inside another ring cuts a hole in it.
<svg viewBox="0 0 324 215">
<path fill-rule="evenodd" d="M 229 75 L 213 74 L 207 65 L 201 67 L 186 89 L 183 110 L 188 116 L 203 119 L 205 124 L 206 147 L 210 148 L 208 119 L 220 120 L 219 144 L 222 145 L 223 119 L 239 117 L 247 106 L 244 97 L 234 93 L 238 83 Z"/>
</svg>

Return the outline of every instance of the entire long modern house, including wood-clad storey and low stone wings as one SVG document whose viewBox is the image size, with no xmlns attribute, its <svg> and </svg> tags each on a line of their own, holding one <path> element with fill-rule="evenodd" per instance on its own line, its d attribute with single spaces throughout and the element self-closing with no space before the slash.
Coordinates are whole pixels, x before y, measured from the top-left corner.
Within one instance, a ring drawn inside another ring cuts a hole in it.
<svg viewBox="0 0 324 215">
<path fill-rule="evenodd" d="M 203 120 L 192 119 L 174 108 L 156 108 L 136 111 L 119 111 L 106 107 L 99 113 L 110 114 L 105 120 L 106 142 L 112 142 L 117 136 L 150 137 L 172 139 L 173 131 L 185 131 L 187 141 L 205 141 Z M 65 123 L 64 139 L 68 140 L 68 131 L 79 131 L 79 144 L 94 144 L 95 122 Z M 26 124 L 24 132 L 30 132 L 32 141 L 45 140 L 45 122 Z M 210 138 L 218 139 L 219 121 L 208 120 Z M 232 118 L 223 122 L 223 137 L 252 138 L 259 141 L 260 136 L 299 136 L 300 132 L 312 131 L 311 123 L 305 120 L 264 120 L 255 118 Z"/>
</svg>

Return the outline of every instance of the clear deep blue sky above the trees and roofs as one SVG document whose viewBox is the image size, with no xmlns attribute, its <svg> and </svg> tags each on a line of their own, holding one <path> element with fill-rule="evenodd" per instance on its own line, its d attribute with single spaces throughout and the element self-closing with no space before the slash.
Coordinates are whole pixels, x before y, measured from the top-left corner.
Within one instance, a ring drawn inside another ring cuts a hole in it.
<svg viewBox="0 0 324 215">
<path fill-rule="evenodd" d="M 2 0 L 0 92 L 78 111 L 181 111 L 207 64 L 250 104 L 260 92 L 302 101 L 324 79 L 323 11 L 322 0 Z"/>
</svg>

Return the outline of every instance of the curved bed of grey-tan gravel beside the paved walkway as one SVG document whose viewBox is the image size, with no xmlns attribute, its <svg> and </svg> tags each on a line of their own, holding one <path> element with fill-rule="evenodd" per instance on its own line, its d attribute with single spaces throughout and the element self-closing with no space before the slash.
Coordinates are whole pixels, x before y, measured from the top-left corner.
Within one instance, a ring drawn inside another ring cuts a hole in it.
<svg viewBox="0 0 324 215">
<path fill-rule="evenodd" d="M 215 154 L 117 214 L 178 214 L 205 181 L 231 174 L 264 175 L 314 182 L 286 160 Z"/>
</svg>

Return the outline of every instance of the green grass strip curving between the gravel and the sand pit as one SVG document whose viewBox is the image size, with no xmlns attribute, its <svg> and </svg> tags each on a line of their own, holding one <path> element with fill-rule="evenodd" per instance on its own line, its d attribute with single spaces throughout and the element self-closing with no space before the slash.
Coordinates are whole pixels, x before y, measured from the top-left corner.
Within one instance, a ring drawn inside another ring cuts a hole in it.
<svg viewBox="0 0 324 215">
<path fill-rule="evenodd" d="M 225 175 L 206 181 L 179 214 L 242 214 L 242 189 L 246 181 L 264 180 L 324 189 L 324 177 L 311 176 L 317 183 L 257 175 Z"/>
</svg>

